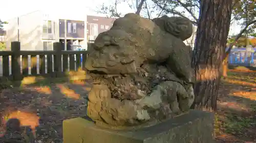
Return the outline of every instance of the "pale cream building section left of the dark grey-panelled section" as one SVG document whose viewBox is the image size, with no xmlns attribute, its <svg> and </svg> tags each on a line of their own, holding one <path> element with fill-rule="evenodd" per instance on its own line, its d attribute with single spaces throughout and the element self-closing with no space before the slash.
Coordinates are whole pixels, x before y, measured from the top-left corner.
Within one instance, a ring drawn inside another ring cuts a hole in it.
<svg viewBox="0 0 256 143">
<path fill-rule="evenodd" d="M 42 11 L 7 20 L 7 49 L 10 49 L 12 41 L 20 41 L 23 51 L 52 50 L 52 43 L 57 41 L 56 20 Z"/>
</svg>

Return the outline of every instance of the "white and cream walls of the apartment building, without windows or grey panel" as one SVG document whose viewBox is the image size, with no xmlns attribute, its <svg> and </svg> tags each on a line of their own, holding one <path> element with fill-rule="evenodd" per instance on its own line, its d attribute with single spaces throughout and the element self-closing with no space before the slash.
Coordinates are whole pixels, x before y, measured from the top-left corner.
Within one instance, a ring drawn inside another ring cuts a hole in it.
<svg viewBox="0 0 256 143">
<path fill-rule="evenodd" d="M 19 18 L 19 26 L 17 23 Z M 84 41 L 82 46 L 87 46 L 87 15 L 86 13 L 77 13 L 76 11 L 55 11 L 38 10 L 22 16 L 8 20 L 7 31 L 7 49 L 11 47 L 11 41 L 20 41 L 20 50 L 43 50 L 43 42 L 59 41 L 59 19 L 84 21 Z M 54 34 L 45 34 L 42 32 L 43 20 L 52 20 Z M 18 36 L 19 29 L 19 36 Z M 50 49 L 49 49 L 50 50 Z"/>
</svg>

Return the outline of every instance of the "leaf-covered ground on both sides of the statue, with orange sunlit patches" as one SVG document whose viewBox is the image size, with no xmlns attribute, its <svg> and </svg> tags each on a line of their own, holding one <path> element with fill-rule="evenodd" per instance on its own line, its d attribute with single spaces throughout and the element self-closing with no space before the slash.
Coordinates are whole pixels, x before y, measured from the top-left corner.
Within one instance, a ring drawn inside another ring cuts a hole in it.
<svg viewBox="0 0 256 143">
<path fill-rule="evenodd" d="M 87 82 L 47 82 L 2 90 L 0 136 L 8 119 L 18 118 L 37 142 L 62 142 L 62 121 L 86 115 L 90 88 Z M 215 120 L 217 142 L 256 142 L 256 72 L 230 71 L 222 79 Z"/>
</svg>

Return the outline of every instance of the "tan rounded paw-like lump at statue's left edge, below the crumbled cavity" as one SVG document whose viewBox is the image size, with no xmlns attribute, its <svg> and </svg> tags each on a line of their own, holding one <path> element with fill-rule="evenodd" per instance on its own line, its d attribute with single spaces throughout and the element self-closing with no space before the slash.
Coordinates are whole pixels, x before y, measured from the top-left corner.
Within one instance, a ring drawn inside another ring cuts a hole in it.
<svg viewBox="0 0 256 143">
<path fill-rule="evenodd" d="M 107 85 L 95 84 L 89 92 L 88 98 L 91 103 L 97 103 L 106 98 L 111 98 L 111 92 Z"/>
</svg>

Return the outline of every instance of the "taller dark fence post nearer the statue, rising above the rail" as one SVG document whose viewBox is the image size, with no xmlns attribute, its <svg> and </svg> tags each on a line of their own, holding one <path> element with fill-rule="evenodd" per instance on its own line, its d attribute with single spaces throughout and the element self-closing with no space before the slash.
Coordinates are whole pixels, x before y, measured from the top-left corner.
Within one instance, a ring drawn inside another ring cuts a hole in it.
<svg viewBox="0 0 256 143">
<path fill-rule="evenodd" d="M 61 71 L 61 65 L 62 65 L 62 54 L 61 54 L 61 43 L 60 42 L 54 42 L 53 43 L 53 50 L 54 52 L 54 73 L 56 74 L 56 77 L 61 77 L 62 76 L 62 71 Z"/>
</svg>

